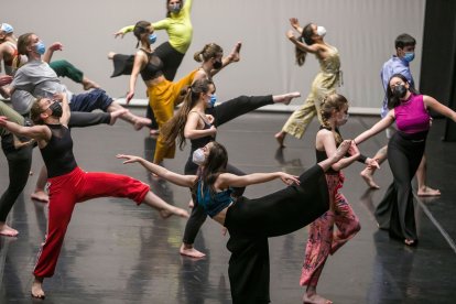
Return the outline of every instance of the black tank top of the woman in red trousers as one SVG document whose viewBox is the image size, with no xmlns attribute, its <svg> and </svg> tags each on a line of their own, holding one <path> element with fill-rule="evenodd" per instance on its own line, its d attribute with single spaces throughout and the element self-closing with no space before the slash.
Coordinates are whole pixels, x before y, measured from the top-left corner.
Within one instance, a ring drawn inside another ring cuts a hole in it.
<svg viewBox="0 0 456 304">
<path fill-rule="evenodd" d="M 73 155 L 73 140 L 69 129 L 62 124 L 46 124 L 52 132 L 46 146 L 41 149 L 47 177 L 55 177 L 72 172 L 76 166 Z"/>
</svg>

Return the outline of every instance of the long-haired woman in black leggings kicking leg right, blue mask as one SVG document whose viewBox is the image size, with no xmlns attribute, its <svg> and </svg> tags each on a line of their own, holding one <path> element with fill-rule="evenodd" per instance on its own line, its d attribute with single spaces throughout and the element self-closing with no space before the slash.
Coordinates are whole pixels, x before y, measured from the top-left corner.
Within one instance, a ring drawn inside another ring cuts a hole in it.
<svg viewBox="0 0 456 304">
<path fill-rule="evenodd" d="M 196 174 L 198 165 L 192 161 L 193 152 L 203 148 L 215 140 L 217 128 L 241 115 L 250 112 L 265 105 L 282 102 L 289 105 L 293 98 L 300 97 L 298 93 L 289 93 L 274 96 L 239 96 L 224 101 L 217 106 L 215 95 L 216 88 L 211 80 L 197 79 L 187 89 L 183 106 L 162 128 L 162 134 L 166 143 L 174 143 L 177 139 L 181 150 L 191 141 L 192 148 L 187 162 L 185 163 L 185 174 Z M 231 164 L 227 164 L 227 172 L 236 175 L 245 175 L 242 171 Z M 234 197 L 243 194 L 245 187 L 235 187 Z M 192 200 L 192 203 L 194 203 Z M 183 243 L 180 253 L 192 258 L 203 258 L 205 253 L 193 247 L 195 238 L 206 220 L 207 215 L 199 204 L 194 204 L 192 215 L 185 226 Z"/>
</svg>

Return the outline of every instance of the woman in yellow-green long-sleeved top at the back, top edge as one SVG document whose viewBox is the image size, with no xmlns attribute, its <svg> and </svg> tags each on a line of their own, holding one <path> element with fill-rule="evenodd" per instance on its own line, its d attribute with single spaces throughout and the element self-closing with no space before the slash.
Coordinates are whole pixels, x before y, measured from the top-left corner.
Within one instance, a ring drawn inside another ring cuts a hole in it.
<svg viewBox="0 0 456 304">
<path fill-rule="evenodd" d="M 169 36 L 169 41 L 162 43 L 156 47 L 155 54 L 163 62 L 163 75 L 164 77 L 173 82 L 176 75 L 177 68 L 184 59 L 193 37 L 193 26 L 191 20 L 193 0 L 166 0 L 166 18 L 158 22 L 153 22 L 152 32 L 155 30 L 165 30 Z M 119 30 L 115 36 L 121 36 L 128 32 L 132 32 L 134 25 L 129 25 Z M 131 56 L 110 53 L 109 58 L 115 62 L 115 73 L 111 77 L 116 77 L 122 74 L 130 75 L 133 68 L 133 61 Z M 151 134 L 156 134 L 156 124 L 153 109 L 148 107 L 146 117 L 152 121 Z"/>
</svg>

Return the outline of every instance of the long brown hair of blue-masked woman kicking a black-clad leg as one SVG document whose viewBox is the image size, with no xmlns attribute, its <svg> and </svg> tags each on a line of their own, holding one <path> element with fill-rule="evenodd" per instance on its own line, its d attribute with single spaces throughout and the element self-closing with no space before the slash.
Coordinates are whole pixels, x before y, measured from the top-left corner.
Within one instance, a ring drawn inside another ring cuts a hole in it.
<svg viewBox="0 0 456 304">
<path fill-rule="evenodd" d="M 197 79 L 185 93 L 184 102 L 178 111 L 166 123 L 162 126 L 161 132 L 165 144 L 173 144 L 178 140 L 178 148 L 184 150 L 186 144 L 184 129 L 187 123 L 189 111 L 195 107 L 200 94 L 209 91 L 214 83 L 209 79 Z"/>
</svg>

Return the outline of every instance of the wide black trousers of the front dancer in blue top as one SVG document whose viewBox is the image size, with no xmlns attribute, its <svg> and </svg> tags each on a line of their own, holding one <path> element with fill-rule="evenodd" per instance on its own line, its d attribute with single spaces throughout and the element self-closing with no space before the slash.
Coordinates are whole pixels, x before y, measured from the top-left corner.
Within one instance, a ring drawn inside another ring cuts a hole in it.
<svg viewBox="0 0 456 304">
<path fill-rule="evenodd" d="M 270 195 L 241 197 L 228 208 L 225 227 L 231 252 L 228 275 L 232 303 L 269 303 L 268 238 L 283 236 L 311 224 L 329 208 L 325 174 L 314 165 L 300 176 L 300 186 Z"/>
</svg>

